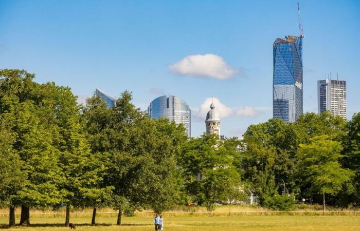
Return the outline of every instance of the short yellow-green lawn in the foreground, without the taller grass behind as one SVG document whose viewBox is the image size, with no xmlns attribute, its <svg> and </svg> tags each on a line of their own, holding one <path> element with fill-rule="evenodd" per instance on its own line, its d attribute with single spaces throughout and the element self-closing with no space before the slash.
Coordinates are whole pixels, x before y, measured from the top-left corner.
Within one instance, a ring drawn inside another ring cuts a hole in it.
<svg viewBox="0 0 360 231">
<path fill-rule="evenodd" d="M 16 220 L 18 221 L 18 219 Z M 124 217 L 116 226 L 116 217 L 98 217 L 96 226 L 91 217 L 71 218 L 76 230 L 154 230 L 151 217 Z M 0 218 L 5 227 L 7 218 Z M 30 218 L 31 227 L 7 230 L 69 230 L 64 218 Z M 186 216 L 164 218 L 164 230 L 360 230 L 360 216 Z"/>
</svg>

